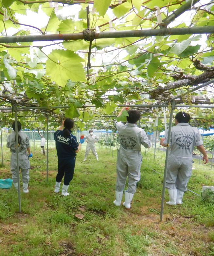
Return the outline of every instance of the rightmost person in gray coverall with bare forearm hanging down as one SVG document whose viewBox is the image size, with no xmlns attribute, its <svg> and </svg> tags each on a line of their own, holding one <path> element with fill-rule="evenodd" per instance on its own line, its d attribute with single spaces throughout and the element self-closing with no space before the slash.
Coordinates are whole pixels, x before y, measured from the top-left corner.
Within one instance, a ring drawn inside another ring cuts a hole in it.
<svg viewBox="0 0 214 256">
<path fill-rule="evenodd" d="M 194 146 L 203 154 L 203 161 L 208 162 L 201 134 L 188 122 L 190 116 L 186 112 L 178 112 L 175 116 L 176 126 L 170 134 L 170 154 L 167 167 L 166 188 L 169 192 L 169 205 L 182 204 L 184 192 L 192 173 L 192 152 Z M 160 144 L 167 147 L 168 131 Z"/>
</svg>

